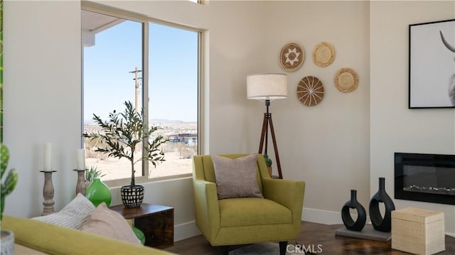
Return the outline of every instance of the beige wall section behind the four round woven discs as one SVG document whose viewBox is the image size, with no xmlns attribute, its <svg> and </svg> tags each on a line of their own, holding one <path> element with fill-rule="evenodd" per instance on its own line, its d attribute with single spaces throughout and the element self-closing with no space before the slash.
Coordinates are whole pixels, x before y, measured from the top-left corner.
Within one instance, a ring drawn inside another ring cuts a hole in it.
<svg viewBox="0 0 455 255">
<path fill-rule="evenodd" d="M 351 189 L 358 190 L 363 205 L 370 199 L 369 3 L 271 1 L 266 6 L 267 67 L 262 71 L 284 72 L 289 80 L 289 97 L 272 102 L 270 108 L 284 178 L 306 182 L 303 219 L 341 223 L 340 210 Z M 315 45 L 322 41 L 336 51 L 328 67 L 318 67 L 312 60 Z M 282 70 L 278 61 L 279 51 L 289 42 L 299 43 L 306 55 L 294 72 Z M 358 73 L 354 92 L 339 92 L 334 85 L 333 77 L 342 67 Z M 314 107 L 306 107 L 296 97 L 299 81 L 308 75 L 324 85 L 323 100 Z M 255 107 L 250 122 L 257 131 L 250 143 L 257 144 L 264 105 L 250 105 Z"/>
</svg>

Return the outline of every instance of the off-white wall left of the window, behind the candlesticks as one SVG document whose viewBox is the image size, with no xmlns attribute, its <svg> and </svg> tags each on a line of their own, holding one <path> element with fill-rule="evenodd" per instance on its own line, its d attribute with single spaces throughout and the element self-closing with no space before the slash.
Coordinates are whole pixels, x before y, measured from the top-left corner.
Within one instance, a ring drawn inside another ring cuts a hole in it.
<svg viewBox="0 0 455 255">
<path fill-rule="evenodd" d="M 4 1 L 4 143 L 18 170 L 5 213 L 43 211 L 44 147 L 53 144 L 55 207 L 74 195 L 80 148 L 80 3 Z"/>
</svg>

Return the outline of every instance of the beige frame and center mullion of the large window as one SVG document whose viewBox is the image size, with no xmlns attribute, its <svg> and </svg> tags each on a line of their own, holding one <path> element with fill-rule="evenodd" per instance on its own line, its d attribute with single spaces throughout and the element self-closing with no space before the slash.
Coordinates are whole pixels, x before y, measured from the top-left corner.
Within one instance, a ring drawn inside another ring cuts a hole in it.
<svg viewBox="0 0 455 255">
<path fill-rule="evenodd" d="M 95 13 L 100 13 L 103 15 L 107 16 L 115 16 L 117 18 L 122 18 L 125 20 L 129 21 L 135 21 L 142 23 L 142 94 L 141 94 L 141 99 L 142 99 L 142 105 L 144 107 L 144 116 L 146 116 L 146 119 L 144 119 L 144 124 L 146 126 L 149 125 L 149 104 L 146 102 L 149 102 L 149 23 L 157 23 L 160 25 L 164 26 L 170 26 L 172 28 L 179 28 L 183 29 L 186 31 L 193 31 L 198 33 L 198 119 L 197 119 L 197 124 L 198 124 L 198 150 L 197 153 L 200 155 L 204 150 L 204 135 L 203 135 L 203 124 L 204 124 L 204 119 L 203 119 L 203 98 L 204 98 L 204 91 L 203 89 L 203 80 L 204 80 L 204 73 L 203 72 L 203 60 L 204 60 L 204 41 L 205 41 L 205 31 L 203 29 L 199 28 L 193 28 L 191 26 L 183 26 L 181 24 L 177 23 L 172 23 L 168 21 L 162 21 L 156 18 L 150 18 L 144 15 L 141 15 L 139 13 L 132 13 L 129 11 L 124 11 L 121 9 L 117 9 L 111 6 L 104 6 L 100 4 L 95 4 L 92 2 L 87 2 L 87 1 L 82 1 L 81 2 L 81 11 L 92 11 Z M 84 131 L 84 46 L 82 45 L 81 41 L 81 57 L 82 57 L 82 62 L 81 62 L 81 131 L 83 133 Z M 82 134 L 81 133 L 81 134 Z M 143 143 L 144 144 L 144 143 Z M 84 148 L 84 139 L 81 136 L 81 147 Z M 159 180 L 172 180 L 172 179 L 178 179 L 178 178 L 188 178 L 193 175 L 193 173 L 184 173 L 184 174 L 178 174 L 178 175 L 168 175 L 168 176 L 161 176 L 158 178 L 149 178 L 149 161 L 142 161 L 142 176 L 137 176 L 136 177 L 136 183 L 137 184 L 144 184 L 144 183 L 150 183 L 152 181 L 159 181 Z M 108 186 L 111 187 L 119 187 L 122 185 L 127 185 L 131 178 L 120 178 L 120 179 L 115 179 L 115 180 L 106 180 L 104 181 Z"/>
</svg>

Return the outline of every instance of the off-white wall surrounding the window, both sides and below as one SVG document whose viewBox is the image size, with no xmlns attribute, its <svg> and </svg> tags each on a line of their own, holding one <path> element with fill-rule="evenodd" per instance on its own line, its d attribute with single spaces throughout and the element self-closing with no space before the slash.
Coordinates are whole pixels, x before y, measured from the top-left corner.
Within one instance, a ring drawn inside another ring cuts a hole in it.
<svg viewBox="0 0 455 255">
<path fill-rule="evenodd" d="M 205 151 L 247 151 L 247 101 L 243 84 L 250 69 L 264 65 L 257 47 L 259 2 L 100 1 L 165 21 L 207 30 L 205 43 Z M 236 18 L 232 20 L 232 13 Z M 252 14 L 253 13 L 253 14 Z M 254 13 L 257 13 L 255 15 Z M 79 1 L 4 3 L 4 141 L 18 186 L 6 198 L 6 215 L 33 217 L 43 210 L 43 154 L 53 143 L 55 210 L 75 196 L 75 150 L 81 136 Z M 241 96 L 239 96 L 241 95 Z M 112 188 L 112 205 L 121 204 Z M 176 240 L 198 233 L 191 178 L 146 184 L 144 202 L 175 207 Z"/>
</svg>

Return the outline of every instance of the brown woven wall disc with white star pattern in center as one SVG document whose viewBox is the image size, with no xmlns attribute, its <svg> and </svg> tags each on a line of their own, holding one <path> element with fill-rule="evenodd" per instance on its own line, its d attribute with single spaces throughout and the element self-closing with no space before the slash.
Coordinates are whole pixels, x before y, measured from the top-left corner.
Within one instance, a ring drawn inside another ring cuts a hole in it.
<svg viewBox="0 0 455 255">
<path fill-rule="evenodd" d="M 295 71 L 304 63 L 305 52 L 297 43 L 284 45 L 279 53 L 279 65 L 289 72 Z"/>
</svg>

